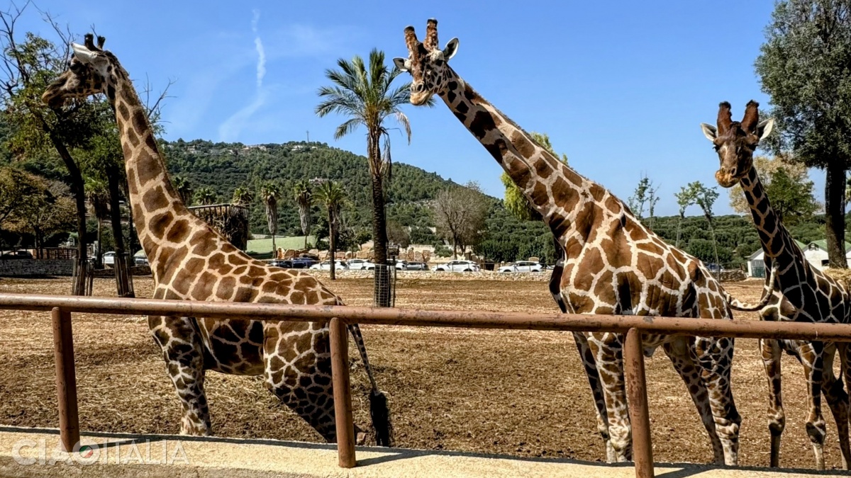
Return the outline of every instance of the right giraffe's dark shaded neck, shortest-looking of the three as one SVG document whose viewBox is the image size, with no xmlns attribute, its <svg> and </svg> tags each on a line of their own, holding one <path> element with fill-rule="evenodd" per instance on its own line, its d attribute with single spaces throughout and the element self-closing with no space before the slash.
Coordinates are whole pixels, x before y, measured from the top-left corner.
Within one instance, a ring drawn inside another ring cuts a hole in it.
<svg viewBox="0 0 851 478">
<path fill-rule="evenodd" d="M 751 167 L 747 176 L 741 179 L 741 185 L 742 190 L 745 191 L 748 206 L 751 208 L 754 225 L 757 226 L 762 250 L 765 252 L 766 269 L 768 270 L 772 261 L 776 261 L 780 270 L 778 281 L 781 287 L 794 286 L 804 279 L 804 276 L 800 274 L 805 274 L 809 270 L 807 259 L 792 239 L 789 230 L 780 221 L 777 212 L 771 207 L 771 202 L 768 201 L 768 195 L 757 174 L 757 168 Z"/>
</svg>

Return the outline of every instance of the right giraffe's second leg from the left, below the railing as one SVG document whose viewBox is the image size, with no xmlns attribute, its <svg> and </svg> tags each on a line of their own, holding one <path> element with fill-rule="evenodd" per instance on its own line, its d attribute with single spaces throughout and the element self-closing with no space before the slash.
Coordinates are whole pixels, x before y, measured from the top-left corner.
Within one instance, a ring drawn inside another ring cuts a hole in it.
<svg viewBox="0 0 851 478">
<path fill-rule="evenodd" d="M 813 443 L 815 468 L 825 469 L 825 418 L 821 415 L 821 379 L 824 371 L 824 344 L 821 342 L 804 342 L 798 349 L 803 365 L 804 377 L 807 380 L 807 435 Z"/>
</svg>

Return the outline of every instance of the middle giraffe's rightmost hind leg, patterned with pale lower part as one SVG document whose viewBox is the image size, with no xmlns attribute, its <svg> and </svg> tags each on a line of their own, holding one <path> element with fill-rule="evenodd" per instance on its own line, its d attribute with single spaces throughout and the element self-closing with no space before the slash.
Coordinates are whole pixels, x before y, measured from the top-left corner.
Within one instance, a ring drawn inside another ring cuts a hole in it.
<svg viewBox="0 0 851 478">
<path fill-rule="evenodd" d="M 727 337 L 696 338 L 694 344 L 703 382 L 709 392 L 709 405 L 723 448 L 724 464 L 734 466 L 739 462 L 739 429 L 742 423 L 730 387 L 734 341 Z"/>
</svg>

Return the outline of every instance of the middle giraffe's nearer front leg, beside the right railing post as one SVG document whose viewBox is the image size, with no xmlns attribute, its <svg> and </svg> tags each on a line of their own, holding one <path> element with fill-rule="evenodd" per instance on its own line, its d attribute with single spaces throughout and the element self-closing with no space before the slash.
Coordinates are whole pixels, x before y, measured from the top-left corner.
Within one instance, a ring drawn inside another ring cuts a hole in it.
<svg viewBox="0 0 851 478">
<path fill-rule="evenodd" d="M 632 459 L 632 427 L 626 407 L 623 343 L 615 333 L 591 333 L 588 346 L 597 365 L 614 462 Z"/>
</svg>

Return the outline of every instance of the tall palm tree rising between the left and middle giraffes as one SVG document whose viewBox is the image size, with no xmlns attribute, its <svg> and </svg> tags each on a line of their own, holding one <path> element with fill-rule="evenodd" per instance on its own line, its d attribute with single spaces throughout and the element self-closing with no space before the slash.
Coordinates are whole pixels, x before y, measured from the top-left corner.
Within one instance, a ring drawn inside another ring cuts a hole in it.
<svg viewBox="0 0 851 478">
<path fill-rule="evenodd" d="M 373 49 L 369 52 L 369 69 L 360 56 L 351 61 L 337 60 L 340 70 L 326 70 L 325 77 L 332 86 L 319 88 L 322 102 L 316 113 L 324 117 L 338 113 L 349 117 L 334 131 L 334 139 L 353 132 L 358 126 L 367 130 L 367 162 L 372 176 L 373 242 L 374 261 L 377 265 L 387 263 L 387 228 L 385 219 L 384 181 L 390 179 L 390 129 L 385 120 L 392 117 L 411 140 L 411 125 L 408 117 L 399 109 L 410 101 L 410 83 L 391 88 L 391 83 L 401 73 L 389 69 L 384 63 L 384 52 Z M 428 105 L 433 105 L 430 100 Z M 390 271 L 386 267 L 375 268 L 375 304 L 390 306 Z"/>
</svg>

